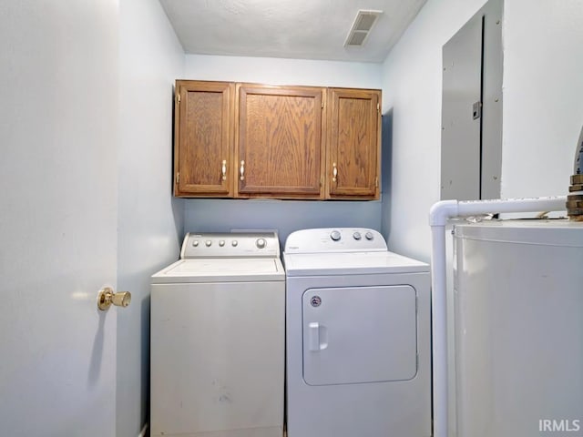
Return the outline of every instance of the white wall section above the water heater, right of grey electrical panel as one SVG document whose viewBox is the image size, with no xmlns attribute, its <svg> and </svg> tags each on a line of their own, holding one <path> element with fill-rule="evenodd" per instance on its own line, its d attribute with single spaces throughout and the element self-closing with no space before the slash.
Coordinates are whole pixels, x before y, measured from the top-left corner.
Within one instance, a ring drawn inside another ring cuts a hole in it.
<svg viewBox="0 0 583 437">
<path fill-rule="evenodd" d="M 568 194 L 583 125 L 583 1 L 506 0 L 502 197 Z"/>
</svg>

